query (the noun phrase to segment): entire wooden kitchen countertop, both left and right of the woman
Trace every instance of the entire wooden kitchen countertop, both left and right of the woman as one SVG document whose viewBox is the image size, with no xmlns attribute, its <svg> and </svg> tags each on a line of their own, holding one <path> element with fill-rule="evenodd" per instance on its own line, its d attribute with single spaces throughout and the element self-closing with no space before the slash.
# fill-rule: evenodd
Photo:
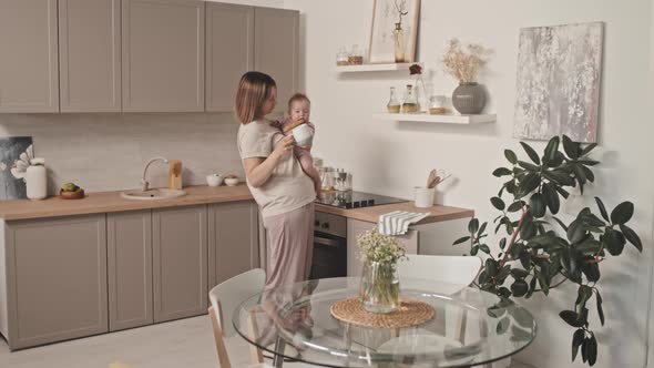
<svg viewBox="0 0 654 368">
<path fill-rule="evenodd" d="M 184 191 L 186 191 L 185 196 L 159 201 L 125 200 L 121 197 L 122 191 L 89 193 L 82 200 L 62 200 L 54 196 L 43 201 L 3 201 L 0 202 L 0 218 L 16 221 L 253 200 L 252 194 L 244 184 L 237 186 L 222 185 L 217 187 L 187 186 Z M 412 202 L 351 209 L 316 204 L 316 211 L 370 223 L 377 223 L 379 215 L 392 211 L 429 212 L 430 215 L 420 221 L 418 225 L 472 217 L 474 215 L 474 211 L 472 209 L 449 206 L 417 208 Z"/>
</svg>

